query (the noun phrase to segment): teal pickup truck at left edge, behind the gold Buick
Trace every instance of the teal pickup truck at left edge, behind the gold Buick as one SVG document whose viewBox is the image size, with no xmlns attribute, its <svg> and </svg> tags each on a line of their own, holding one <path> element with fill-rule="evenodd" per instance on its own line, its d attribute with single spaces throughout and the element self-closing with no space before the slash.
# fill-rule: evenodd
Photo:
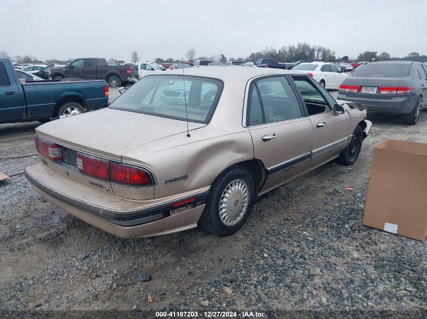
<svg viewBox="0 0 427 319">
<path fill-rule="evenodd" d="M 104 80 L 21 83 L 12 62 L 0 58 L 0 123 L 47 122 L 61 115 L 103 108 L 107 103 Z"/>
</svg>

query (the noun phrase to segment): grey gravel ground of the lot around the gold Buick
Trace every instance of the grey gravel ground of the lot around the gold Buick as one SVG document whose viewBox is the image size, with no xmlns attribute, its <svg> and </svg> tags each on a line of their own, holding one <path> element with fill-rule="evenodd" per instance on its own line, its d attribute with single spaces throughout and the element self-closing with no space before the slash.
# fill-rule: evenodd
<svg viewBox="0 0 427 319">
<path fill-rule="evenodd" d="M 0 310 L 426 309 L 426 242 L 361 222 L 373 145 L 427 142 L 427 113 L 415 126 L 369 118 L 355 165 L 328 163 L 279 187 L 227 238 L 197 228 L 121 239 L 46 202 L 23 175 L 1 182 Z M 0 156 L 33 153 L 38 124 L 0 124 Z M 0 170 L 36 162 L 0 160 Z"/>
</svg>

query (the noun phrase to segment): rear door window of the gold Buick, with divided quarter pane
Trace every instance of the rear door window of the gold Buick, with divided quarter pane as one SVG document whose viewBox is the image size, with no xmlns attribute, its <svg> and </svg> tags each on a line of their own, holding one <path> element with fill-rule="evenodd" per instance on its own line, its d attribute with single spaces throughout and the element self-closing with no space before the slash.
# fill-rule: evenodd
<svg viewBox="0 0 427 319">
<path fill-rule="evenodd" d="M 303 117 L 297 97 L 285 77 L 258 80 L 251 90 L 248 126 Z"/>
</svg>

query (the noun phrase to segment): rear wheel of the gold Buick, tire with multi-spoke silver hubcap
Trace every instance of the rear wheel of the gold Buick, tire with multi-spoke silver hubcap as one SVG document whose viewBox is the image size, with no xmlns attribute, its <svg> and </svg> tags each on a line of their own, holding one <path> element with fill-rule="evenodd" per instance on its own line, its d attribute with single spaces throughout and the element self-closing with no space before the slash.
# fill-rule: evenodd
<svg viewBox="0 0 427 319">
<path fill-rule="evenodd" d="M 254 189 L 246 169 L 234 166 L 222 172 L 212 184 L 199 225 L 220 237 L 234 234 L 248 219 L 254 203 Z"/>
</svg>

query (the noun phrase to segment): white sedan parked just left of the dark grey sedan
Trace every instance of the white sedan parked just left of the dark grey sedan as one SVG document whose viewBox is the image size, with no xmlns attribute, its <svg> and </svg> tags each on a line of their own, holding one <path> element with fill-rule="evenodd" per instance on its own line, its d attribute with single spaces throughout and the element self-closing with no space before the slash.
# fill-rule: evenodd
<svg viewBox="0 0 427 319">
<path fill-rule="evenodd" d="M 326 62 L 301 63 L 295 66 L 292 71 L 307 73 L 325 89 L 338 89 L 344 79 L 348 77 L 332 63 Z"/>
</svg>

